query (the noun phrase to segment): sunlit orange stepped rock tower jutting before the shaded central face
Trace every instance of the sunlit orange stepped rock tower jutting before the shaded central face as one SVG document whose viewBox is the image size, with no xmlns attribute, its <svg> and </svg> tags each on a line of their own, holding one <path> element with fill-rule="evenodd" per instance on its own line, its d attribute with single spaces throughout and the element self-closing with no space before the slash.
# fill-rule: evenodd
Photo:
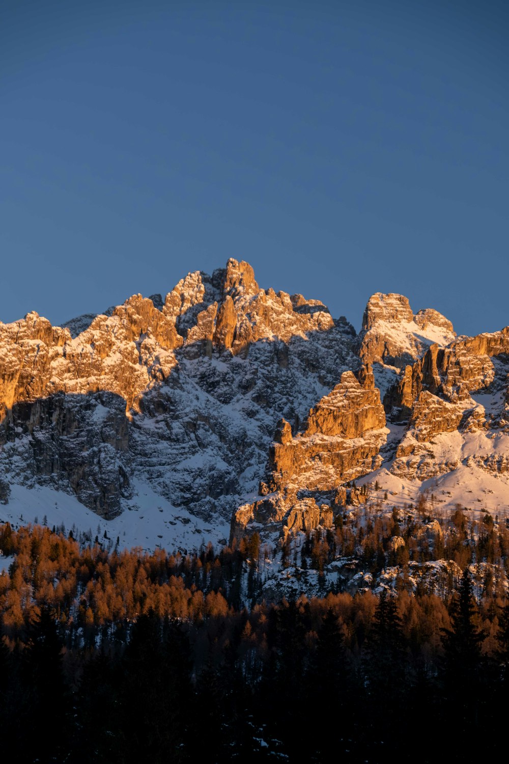
<svg viewBox="0 0 509 764">
<path fill-rule="evenodd" d="M 340 384 L 309 411 L 306 426 L 295 437 L 288 422 L 279 422 L 267 476 L 259 487 L 266 496 L 240 507 L 232 521 L 233 536 L 242 536 L 249 523 L 272 528 L 279 523 L 284 536 L 330 527 L 333 510 L 346 501 L 343 483 L 379 467 L 388 432 L 385 412 L 372 371 L 361 367 L 358 377 L 344 372 Z M 304 496 L 309 493 L 315 495 Z M 327 503 L 320 501 L 325 494 Z"/>
</svg>

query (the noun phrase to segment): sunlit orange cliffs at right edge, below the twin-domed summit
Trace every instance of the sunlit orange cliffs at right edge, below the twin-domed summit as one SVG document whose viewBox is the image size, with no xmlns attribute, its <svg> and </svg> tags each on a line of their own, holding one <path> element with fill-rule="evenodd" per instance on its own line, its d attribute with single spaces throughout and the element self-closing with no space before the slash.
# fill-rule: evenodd
<svg viewBox="0 0 509 764">
<path fill-rule="evenodd" d="M 461 463 L 497 464 L 504 471 L 503 459 L 472 455 L 465 441 L 475 432 L 500 441 L 509 422 L 508 389 L 509 329 L 462 338 L 447 348 L 431 345 L 385 397 L 389 419 L 408 423 L 391 471 L 421 480 Z M 440 439 L 444 435 L 446 441 Z"/>
</svg>

